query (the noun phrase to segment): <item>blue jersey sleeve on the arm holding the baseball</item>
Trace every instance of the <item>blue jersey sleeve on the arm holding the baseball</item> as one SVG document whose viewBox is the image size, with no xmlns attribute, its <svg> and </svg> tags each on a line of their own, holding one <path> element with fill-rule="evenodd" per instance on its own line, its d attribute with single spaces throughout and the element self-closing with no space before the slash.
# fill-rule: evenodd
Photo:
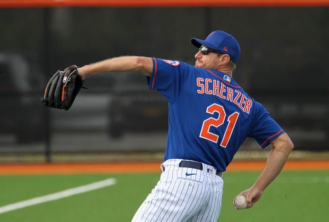
<svg viewBox="0 0 329 222">
<path fill-rule="evenodd" d="M 271 140 L 277 138 L 285 131 L 261 104 L 255 103 L 254 124 L 251 126 L 248 136 L 256 139 L 258 144 L 265 148 L 270 144 Z"/>
</svg>

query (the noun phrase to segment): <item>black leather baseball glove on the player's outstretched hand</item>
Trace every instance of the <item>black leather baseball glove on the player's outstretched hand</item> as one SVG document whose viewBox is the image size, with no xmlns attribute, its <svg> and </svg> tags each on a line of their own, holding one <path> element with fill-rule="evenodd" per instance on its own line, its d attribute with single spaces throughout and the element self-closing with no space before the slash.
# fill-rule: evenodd
<svg viewBox="0 0 329 222">
<path fill-rule="evenodd" d="M 46 107 L 68 110 L 82 88 L 82 84 L 83 80 L 78 74 L 76 65 L 67 67 L 64 71 L 58 70 L 46 86 L 42 103 Z"/>
</svg>

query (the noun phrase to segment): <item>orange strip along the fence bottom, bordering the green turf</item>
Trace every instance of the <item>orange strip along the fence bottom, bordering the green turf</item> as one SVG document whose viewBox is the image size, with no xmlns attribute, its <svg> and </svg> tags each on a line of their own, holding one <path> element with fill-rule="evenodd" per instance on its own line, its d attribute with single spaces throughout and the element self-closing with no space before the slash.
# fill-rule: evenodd
<svg viewBox="0 0 329 222">
<path fill-rule="evenodd" d="M 0 175 L 157 173 L 161 162 L 0 164 Z M 265 161 L 233 161 L 227 171 L 261 171 Z M 284 170 L 329 170 L 329 160 L 290 160 Z"/>
</svg>

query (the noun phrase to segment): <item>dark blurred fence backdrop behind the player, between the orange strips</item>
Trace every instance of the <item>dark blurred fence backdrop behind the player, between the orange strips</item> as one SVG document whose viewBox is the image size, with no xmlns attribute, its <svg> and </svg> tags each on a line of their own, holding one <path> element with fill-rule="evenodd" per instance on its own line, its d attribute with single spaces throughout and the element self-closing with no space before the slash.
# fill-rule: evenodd
<svg viewBox="0 0 329 222">
<path fill-rule="evenodd" d="M 89 90 L 81 91 L 69 111 L 42 105 L 46 82 L 58 69 L 120 55 L 194 64 L 197 49 L 190 38 L 205 38 L 217 29 L 240 43 L 234 79 L 287 131 L 295 150 L 329 151 L 329 3 L 63 7 L 72 1 L 4 2 L 9 1 L 0 2 L 0 162 L 77 156 L 106 161 L 117 160 L 117 153 L 162 158 L 167 103 L 148 90 L 143 75 L 89 77 Z M 260 147 L 247 139 L 241 150 Z"/>
</svg>

